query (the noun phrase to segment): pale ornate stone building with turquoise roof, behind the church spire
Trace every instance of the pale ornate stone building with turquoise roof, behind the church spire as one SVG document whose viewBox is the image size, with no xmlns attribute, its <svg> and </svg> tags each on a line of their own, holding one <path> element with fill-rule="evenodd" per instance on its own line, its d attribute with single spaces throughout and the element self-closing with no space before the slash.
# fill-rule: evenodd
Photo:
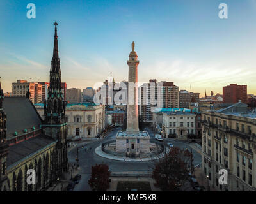
<svg viewBox="0 0 256 204">
<path fill-rule="evenodd" d="M 44 104 L 35 104 L 44 117 Z M 105 128 L 105 106 L 94 103 L 68 103 L 66 107 L 69 139 L 95 137 Z"/>
</svg>

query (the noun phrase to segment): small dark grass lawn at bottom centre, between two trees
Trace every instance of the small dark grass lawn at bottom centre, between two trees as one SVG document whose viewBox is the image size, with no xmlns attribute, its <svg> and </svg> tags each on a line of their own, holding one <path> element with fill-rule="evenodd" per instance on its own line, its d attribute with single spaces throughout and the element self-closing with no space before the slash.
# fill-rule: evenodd
<svg viewBox="0 0 256 204">
<path fill-rule="evenodd" d="M 151 191 L 149 182 L 118 181 L 116 191 L 131 191 L 131 189 L 137 189 L 137 191 Z"/>
</svg>

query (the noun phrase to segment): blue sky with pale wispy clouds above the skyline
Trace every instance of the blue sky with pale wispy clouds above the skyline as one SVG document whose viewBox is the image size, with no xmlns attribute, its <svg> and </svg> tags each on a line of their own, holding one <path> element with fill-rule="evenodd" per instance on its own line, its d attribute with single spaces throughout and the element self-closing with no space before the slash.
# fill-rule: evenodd
<svg viewBox="0 0 256 204">
<path fill-rule="evenodd" d="M 27 18 L 29 3 L 36 18 Z M 220 3 L 227 19 L 219 18 Z M 93 87 L 110 73 L 127 80 L 134 41 L 139 82 L 171 81 L 201 97 L 246 84 L 256 94 L 256 0 L 1 0 L 4 92 L 17 79 L 49 82 L 55 20 L 68 88 Z"/>
</svg>

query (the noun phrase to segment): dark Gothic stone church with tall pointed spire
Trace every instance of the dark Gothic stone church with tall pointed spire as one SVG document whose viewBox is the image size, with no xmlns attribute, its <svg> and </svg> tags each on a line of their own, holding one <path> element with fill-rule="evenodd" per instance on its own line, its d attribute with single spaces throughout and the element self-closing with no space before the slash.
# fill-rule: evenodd
<svg viewBox="0 0 256 204">
<path fill-rule="evenodd" d="M 65 101 L 61 93 L 57 22 L 44 119 L 27 97 L 4 98 L 0 83 L 0 191 L 44 191 L 68 171 Z M 28 170 L 36 184 L 28 184 Z"/>
</svg>

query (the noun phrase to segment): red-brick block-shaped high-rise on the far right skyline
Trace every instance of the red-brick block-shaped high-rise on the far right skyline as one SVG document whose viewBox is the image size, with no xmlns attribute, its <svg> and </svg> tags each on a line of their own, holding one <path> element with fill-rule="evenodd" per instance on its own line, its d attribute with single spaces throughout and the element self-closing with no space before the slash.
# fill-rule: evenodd
<svg viewBox="0 0 256 204">
<path fill-rule="evenodd" d="M 223 87 L 223 103 L 247 103 L 247 85 L 230 84 Z"/>
</svg>

